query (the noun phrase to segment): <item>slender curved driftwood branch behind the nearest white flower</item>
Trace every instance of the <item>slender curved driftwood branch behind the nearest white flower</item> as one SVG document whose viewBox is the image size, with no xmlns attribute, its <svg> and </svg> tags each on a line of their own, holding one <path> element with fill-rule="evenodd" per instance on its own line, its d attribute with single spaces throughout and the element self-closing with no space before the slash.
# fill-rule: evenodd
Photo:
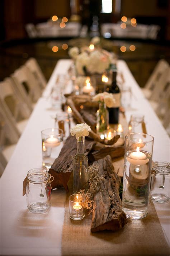
<svg viewBox="0 0 170 256">
<path fill-rule="evenodd" d="M 67 98 L 66 103 L 67 103 L 67 104 L 70 106 L 70 108 L 72 109 L 72 112 L 73 112 L 73 114 L 74 114 L 74 118 L 76 118 L 77 122 L 78 122 L 78 123 L 85 123 L 84 118 L 81 116 L 81 114 L 79 113 L 79 111 L 77 111 L 77 109 L 76 109 L 76 107 L 75 107 L 75 105 L 74 105 L 74 102 L 73 102 L 73 100 L 72 100 L 71 97 Z M 98 134 L 94 133 L 94 131 L 91 131 L 91 132 L 89 133 L 89 136 L 90 136 L 92 139 L 94 139 L 94 140 L 96 140 L 96 141 L 98 141 L 98 142 L 100 142 L 100 143 L 106 144 L 106 145 L 113 145 L 113 144 L 116 143 L 116 142 L 118 141 L 118 139 L 120 138 L 120 135 L 116 135 L 116 136 L 114 136 L 113 139 L 111 139 L 111 140 L 101 139 Z"/>
</svg>

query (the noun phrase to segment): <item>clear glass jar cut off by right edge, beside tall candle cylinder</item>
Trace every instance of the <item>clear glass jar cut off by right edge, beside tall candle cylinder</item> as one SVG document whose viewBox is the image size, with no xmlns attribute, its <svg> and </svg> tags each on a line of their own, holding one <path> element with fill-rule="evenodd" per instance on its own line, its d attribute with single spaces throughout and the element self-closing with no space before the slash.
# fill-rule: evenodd
<svg viewBox="0 0 170 256">
<path fill-rule="evenodd" d="M 151 186 L 151 198 L 156 203 L 167 203 L 169 201 L 170 163 L 156 161 L 152 166 L 152 170 L 154 171 L 155 179 Z"/>
</svg>

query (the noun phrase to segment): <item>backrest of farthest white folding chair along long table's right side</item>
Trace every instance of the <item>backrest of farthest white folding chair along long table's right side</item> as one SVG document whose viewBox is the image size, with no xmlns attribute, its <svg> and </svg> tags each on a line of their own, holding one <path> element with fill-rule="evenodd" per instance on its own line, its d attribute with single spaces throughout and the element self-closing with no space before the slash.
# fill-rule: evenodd
<svg viewBox="0 0 170 256">
<path fill-rule="evenodd" d="M 161 74 L 168 67 L 169 64 L 167 63 L 167 61 L 165 59 L 160 59 L 159 62 L 156 64 L 156 67 L 154 68 L 154 71 L 152 72 L 148 81 L 146 82 L 145 88 L 153 90 Z"/>
</svg>

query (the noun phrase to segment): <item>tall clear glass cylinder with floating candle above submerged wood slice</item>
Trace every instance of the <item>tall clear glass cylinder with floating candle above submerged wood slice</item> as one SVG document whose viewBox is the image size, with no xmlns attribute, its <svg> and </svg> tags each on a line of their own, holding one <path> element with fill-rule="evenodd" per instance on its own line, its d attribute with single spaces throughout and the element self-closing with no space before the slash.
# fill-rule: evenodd
<svg viewBox="0 0 170 256">
<path fill-rule="evenodd" d="M 142 133 L 125 137 L 122 210 L 130 219 L 147 216 L 154 138 Z"/>
</svg>

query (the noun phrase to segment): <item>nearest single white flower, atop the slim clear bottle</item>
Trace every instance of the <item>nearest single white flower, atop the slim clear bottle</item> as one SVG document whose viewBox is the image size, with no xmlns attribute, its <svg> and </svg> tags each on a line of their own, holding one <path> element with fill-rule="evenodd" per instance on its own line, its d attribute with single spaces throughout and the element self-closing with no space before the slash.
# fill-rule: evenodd
<svg viewBox="0 0 170 256">
<path fill-rule="evenodd" d="M 70 129 L 71 136 L 76 135 L 76 139 L 81 136 L 88 136 L 91 128 L 86 123 L 80 123 Z"/>
</svg>

